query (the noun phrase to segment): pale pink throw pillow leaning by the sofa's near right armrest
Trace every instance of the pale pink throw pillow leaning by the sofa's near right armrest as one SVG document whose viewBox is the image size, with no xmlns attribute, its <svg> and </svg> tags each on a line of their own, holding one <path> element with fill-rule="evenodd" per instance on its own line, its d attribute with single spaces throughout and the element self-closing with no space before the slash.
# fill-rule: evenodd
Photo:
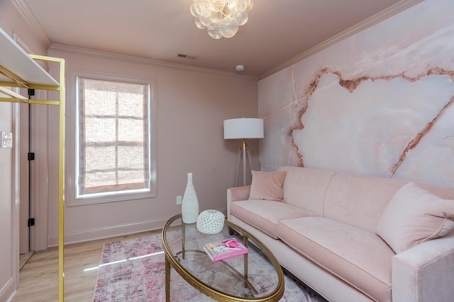
<svg viewBox="0 0 454 302">
<path fill-rule="evenodd" d="M 409 182 L 392 197 L 376 233 L 399 253 L 454 229 L 454 200 L 442 199 Z"/>
</svg>

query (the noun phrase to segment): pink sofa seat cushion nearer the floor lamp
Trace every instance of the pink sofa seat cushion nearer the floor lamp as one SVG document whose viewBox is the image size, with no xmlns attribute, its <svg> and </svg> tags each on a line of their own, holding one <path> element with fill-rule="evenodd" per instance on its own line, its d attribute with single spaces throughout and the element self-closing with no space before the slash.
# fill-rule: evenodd
<svg viewBox="0 0 454 302">
<path fill-rule="evenodd" d="M 310 211 L 305 211 L 283 202 L 255 199 L 232 202 L 230 213 L 275 239 L 277 239 L 277 223 L 280 220 L 314 216 Z"/>
</svg>

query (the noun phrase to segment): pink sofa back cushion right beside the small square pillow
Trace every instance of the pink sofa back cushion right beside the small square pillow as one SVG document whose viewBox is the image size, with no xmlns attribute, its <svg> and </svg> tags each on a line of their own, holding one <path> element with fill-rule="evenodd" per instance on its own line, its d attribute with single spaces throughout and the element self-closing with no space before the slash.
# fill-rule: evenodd
<svg viewBox="0 0 454 302">
<path fill-rule="evenodd" d="M 328 170 L 284 166 L 284 202 L 323 216 L 323 201 L 328 185 L 336 173 Z M 375 229 L 374 229 L 375 231 Z"/>
</svg>

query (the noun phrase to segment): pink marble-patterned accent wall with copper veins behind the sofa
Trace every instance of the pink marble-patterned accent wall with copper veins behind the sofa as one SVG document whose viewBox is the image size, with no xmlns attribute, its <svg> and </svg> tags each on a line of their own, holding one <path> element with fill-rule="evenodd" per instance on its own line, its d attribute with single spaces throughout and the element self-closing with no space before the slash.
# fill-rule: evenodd
<svg viewBox="0 0 454 302">
<path fill-rule="evenodd" d="M 426 0 L 259 82 L 262 170 L 454 187 L 454 1 Z"/>
</svg>

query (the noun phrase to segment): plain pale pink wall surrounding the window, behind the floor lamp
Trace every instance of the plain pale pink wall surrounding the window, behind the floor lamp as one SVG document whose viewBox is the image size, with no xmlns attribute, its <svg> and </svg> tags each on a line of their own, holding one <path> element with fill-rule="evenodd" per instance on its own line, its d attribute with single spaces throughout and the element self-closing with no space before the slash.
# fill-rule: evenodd
<svg viewBox="0 0 454 302">
<path fill-rule="evenodd" d="M 138 76 L 157 83 L 157 197 L 65 207 L 65 242 L 161 228 L 181 211 L 176 197 L 184 193 L 188 172 L 193 173 L 200 210 L 226 211 L 226 190 L 234 183 L 240 141 L 223 139 L 223 120 L 258 116 L 257 79 L 156 66 L 143 59 L 62 45 L 52 46 L 49 55 L 64 58 L 67 69 Z M 74 102 L 73 95 L 67 96 L 67 102 Z M 50 108 L 50 245 L 57 244 L 57 114 L 57 108 Z M 71 129 L 68 125 L 67 141 L 74 139 Z M 258 151 L 258 141 L 251 146 Z M 74 163 L 68 159 L 67 164 Z"/>
</svg>

